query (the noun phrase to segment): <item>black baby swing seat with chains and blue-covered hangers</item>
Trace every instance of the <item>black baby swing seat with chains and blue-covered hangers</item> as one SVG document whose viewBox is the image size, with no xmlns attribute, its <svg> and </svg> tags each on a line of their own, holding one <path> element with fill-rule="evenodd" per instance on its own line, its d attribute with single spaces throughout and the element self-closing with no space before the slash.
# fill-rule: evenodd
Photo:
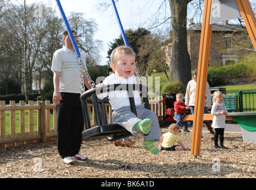
<svg viewBox="0 0 256 190">
<path fill-rule="evenodd" d="M 68 31 L 69 37 L 71 37 L 71 42 L 72 45 L 75 49 L 75 53 L 78 58 L 78 62 L 80 64 L 80 78 L 81 78 L 81 104 L 83 107 L 83 116 L 84 116 L 84 122 L 86 125 L 86 130 L 82 132 L 83 138 L 90 138 L 90 137 L 101 137 L 101 136 L 106 136 L 109 141 L 115 141 L 121 138 L 129 137 L 132 134 L 128 132 L 125 128 L 123 128 L 120 125 L 117 124 L 108 124 L 108 120 L 106 117 L 106 111 L 105 111 L 105 103 L 108 102 L 108 99 L 104 100 L 99 100 L 97 98 L 97 93 L 102 93 L 102 92 L 110 92 L 113 90 L 127 90 L 128 95 L 129 95 L 129 102 L 131 105 L 131 110 L 132 112 L 137 115 L 136 113 L 136 108 L 135 108 L 135 102 L 134 102 L 134 97 L 133 97 L 133 90 L 138 90 L 142 91 L 142 97 L 144 101 L 144 106 L 147 109 L 150 109 L 149 103 L 148 103 L 148 98 L 147 98 L 147 86 L 142 84 L 142 80 L 140 78 L 140 75 L 138 74 L 138 70 L 135 67 L 135 74 L 137 75 L 138 80 L 140 81 L 140 84 L 114 84 L 114 85 L 105 85 L 101 88 L 95 88 L 94 87 L 94 82 L 91 80 L 91 77 L 89 75 L 89 72 L 87 71 L 86 65 L 83 64 L 83 60 L 81 60 L 81 55 L 78 50 L 77 44 L 75 43 L 74 36 L 72 35 L 71 28 L 68 24 L 68 20 L 65 16 L 64 10 L 62 9 L 61 3 L 59 0 L 56 0 L 59 11 L 61 12 L 62 19 L 65 22 L 65 26 Z M 125 46 L 129 47 L 127 37 L 125 36 L 124 29 L 122 27 L 121 20 L 118 15 L 118 11 L 115 6 L 115 2 L 112 0 L 112 5 L 113 9 L 116 14 L 116 19 L 119 24 L 119 28 L 122 33 L 122 37 L 124 39 Z M 86 73 L 87 78 L 89 79 L 89 83 L 91 85 L 91 89 L 84 91 L 84 81 L 83 81 L 83 71 Z M 91 97 L 91 98 L 89 98 Z M 89 115 L 89 110 L 87 108 L 87 102 L 93 103 L 93 108 L 94 108 L 94 115 L 96 117 L 96 126 L 91 128 L 90 125 L 90 115 Z M 99 108 L 99 105 L 101 109 Z M 102 125 L 103 121 L 103 125 Z"/>
</svg>

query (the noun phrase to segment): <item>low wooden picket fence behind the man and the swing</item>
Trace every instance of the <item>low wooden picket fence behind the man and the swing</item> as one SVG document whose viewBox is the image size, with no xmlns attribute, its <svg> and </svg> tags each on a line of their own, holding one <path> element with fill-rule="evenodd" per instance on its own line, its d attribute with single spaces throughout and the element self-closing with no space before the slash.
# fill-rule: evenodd
<svg viewBox="0 0 256 190">
<path fill-rule="evenodd" d="M 149 99 L 151 110 L 159 118 L 163 115 L 162 100 Z M 88 105 L 91 110 L 91 126 L 95 126 L 93 105 Z M 109 104 L 105 105 L 108 113 L 108 122 L 112 123 L 112 109 Z M 10 101 L 10 105 L 5 105 L 5 101 L 0 101 L 0 148 L 18 147 L 29 143 L 46 143 L 56 139 L 56 105 L 46 102 L 29 101 L 25 105 L 20 101 L 18 105 L 15 101 Z"/>
</svg>

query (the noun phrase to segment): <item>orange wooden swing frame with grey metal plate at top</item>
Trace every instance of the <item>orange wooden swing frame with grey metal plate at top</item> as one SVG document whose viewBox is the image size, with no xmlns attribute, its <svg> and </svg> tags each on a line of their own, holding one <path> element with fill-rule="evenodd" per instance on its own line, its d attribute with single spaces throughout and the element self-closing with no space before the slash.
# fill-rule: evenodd
<svg viewBox="0 0 256 190">
<path fill-rule="evenodd" d="M 204 114 L 204 97 L 206 96 L 206 81 L 208 71 L 208 60 L 210 55 L 211 32 L 213 24 L 232 18 L 243 17 L 246 29 L 248 30 L 252 44 L 256 49 L 256 19 L 248 0 L 207 0 L 204 1 L 203 25 L 201 30 L 200 52 L 198 59 L 197 90 L 195 99 L 195 111 L 193 116 L 193 131 L 191 142 L 191 154 L 197 157 L 200 154 L 201 134 Z M 235 121 L 247 121 L 245 113 L 232 113 Z M 251 113 L 253 120 L 256 113 Z M 240 119 L 237 119 L 240 118 Z M 184 118 L 185 119 L 185 118 Z M 250 120 L 251 120 L 250 119 Z M 254 119 L 255 122 L 255 119 Z M 251 126 L 255 126 L 253 124 Z"/>
</svg>

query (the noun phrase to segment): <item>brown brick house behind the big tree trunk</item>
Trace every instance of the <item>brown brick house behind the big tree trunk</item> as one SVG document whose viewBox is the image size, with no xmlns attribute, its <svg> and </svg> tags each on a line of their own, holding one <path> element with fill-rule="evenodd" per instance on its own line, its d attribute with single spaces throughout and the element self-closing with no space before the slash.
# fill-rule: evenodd
<svg viewBox="0 0 256 190">
<path fill-rule="evenodd" d="M 187 42 L 192 70 L 197 69 L 200 39 L 201 23 L 195 24 L 191 20 L 187 29 Z M 170 65 L 171 62 L 171 46 L 172 43 L 165 46 L 167 65 Z M 229 24 L 228 21 L 213 24 L 209 66 L 234 64 L 238 62 L 242 55 L 249 52 L 255 52 L 255 50 L 245 26 Z"/>
</svg>

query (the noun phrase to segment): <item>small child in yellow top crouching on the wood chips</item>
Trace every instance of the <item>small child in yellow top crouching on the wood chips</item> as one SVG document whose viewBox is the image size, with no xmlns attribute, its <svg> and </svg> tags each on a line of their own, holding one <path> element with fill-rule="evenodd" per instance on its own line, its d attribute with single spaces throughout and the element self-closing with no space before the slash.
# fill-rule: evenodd
<svg viewBox="0 0 256 190">
<path fill-rule="evenodd" d="M 161 150 L 167 150 L 167 151 L 173 151 L 173 150 L 187 150 L 187 148 L 184 147 L 181 140 L 179 140 L 178 132 L 180 130 L 180 126 L 177 124 L 171 124 L 168 128 L 168 132 L 163 134 L 163 136 L 160 139 L 160 144 L 158 145 L 158 149 Z M 175 143 L 178 142 L 179 145 L 175 145 Z"/>
</svg>

